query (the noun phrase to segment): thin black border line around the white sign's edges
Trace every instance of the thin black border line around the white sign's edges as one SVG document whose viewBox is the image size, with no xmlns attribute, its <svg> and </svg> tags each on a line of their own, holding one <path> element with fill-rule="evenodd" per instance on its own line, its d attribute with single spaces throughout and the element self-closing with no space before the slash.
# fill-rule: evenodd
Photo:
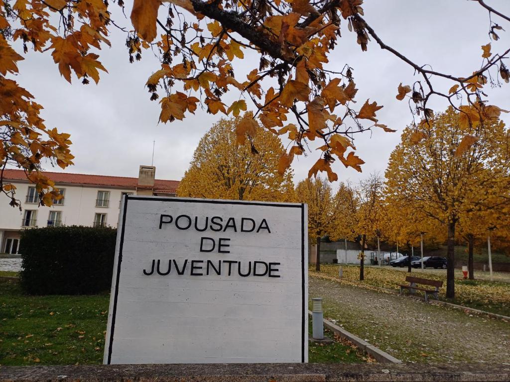
<svg viewBox="0 0 510 382">
<path fill-rule="evenodd" d="M 287 207 L 287 208 L 301 208 L 301 363 L 304 363 L 304 348 L 305 348 L 305 340 L 308 340 L 306 337 L 305 330 L 305 321 L 306 314 L 305 312 L 305 290 L 304 290 L 304 279 L 305 279 L 305 258 L 304 258 L 304 203 L 301 204 L 278 204 L 278 203 L 261 203 L 261 202 L 237 202 L 230 200 L 205 200 L 205 199 L 181 199 L 181 198 L 158 198 L 158 197 L 143 197 L 143 196 L 133 196 L 133 195 L 125 195 L 123 210 L 122 210 L 122 223 L 121 223 L 121 231 L 120 231 L 120 243 L 119 243 L 119 256 L 117 258 L 117 277 L 115 278 L 115 293 L 113 299 L 113 312 L 112 312 L 112 323 L 110 325 L 110 343 L 108 344 L 108 363 L 111 364 L 112 361 L 112 347 L 113 347 L 113 334 L 115 332 L 115 318 L 117 313 L 117 299 L 118 299 L 118 290 L 119 290 L 119 279 L 120 279 L 120 266 L 122 263 L 122 247 L 124 244 L 124 228 L 126 221 L 126 210 L 127 210 L 127 201 L 129 200 L 156 200 L 160 202 L 184 202 L 184 203 L 210 203 L 210 204 L 242 204 L 242 205 L 251 205 L 251 206 L 265 206 L 265 207 Z"/>
</svg>

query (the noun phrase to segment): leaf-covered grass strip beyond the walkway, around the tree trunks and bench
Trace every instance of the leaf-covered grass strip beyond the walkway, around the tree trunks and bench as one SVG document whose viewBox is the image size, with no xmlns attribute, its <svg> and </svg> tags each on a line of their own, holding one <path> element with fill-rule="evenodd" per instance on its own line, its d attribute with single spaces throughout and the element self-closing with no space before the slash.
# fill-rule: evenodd
<svg viewBox="0 0 510 382">
<path fill-rule="evenodd" d="M 320 274 L 338 278 L 338 265 L 321 264 Z M 315 272 L 315 265 L 310 271 Z M 360 282 L 360 267 L 358 265 L 343 265 L 343 280 L 362 283 L 367 286 L 376 286 L 398 290 L 398 284 L 406 285 L 405 277 L 407 272 L 392 269 L 390 267 L 366 267 L 365 280 Z M 446 293 L 446 272 L 442 274 L 431 274 L 413 269 L 412 276 L 422 277 L 430 280 L 442 280 L 443 287 L 439 291 L 439 298 L 454 304 L 484 310 L 487 312 L 510 316 L 510 284 L 501 282 L 490 282 L 482 280 L 455 279 L 455 299 L 445 297 Z M 418 293 L 419 294 L 419 293 Z"/>
</svg>

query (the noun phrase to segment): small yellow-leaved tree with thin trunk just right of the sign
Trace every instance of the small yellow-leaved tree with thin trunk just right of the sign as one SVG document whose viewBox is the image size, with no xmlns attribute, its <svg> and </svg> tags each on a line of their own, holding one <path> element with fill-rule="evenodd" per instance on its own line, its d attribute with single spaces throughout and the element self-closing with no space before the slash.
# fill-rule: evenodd
<svg viewBox="0 0 510 382">
<path fill-rule="evenodd" d="M 335 235 L 337 220 L 344 212 L 341 200 L 320 176 L 301 180 L 296 186 L 296 200 L 308 204 L 308 237 L 317 244 L 315 269 L 320 271 L 320 240 L 324 235 Z"/>
</svg>

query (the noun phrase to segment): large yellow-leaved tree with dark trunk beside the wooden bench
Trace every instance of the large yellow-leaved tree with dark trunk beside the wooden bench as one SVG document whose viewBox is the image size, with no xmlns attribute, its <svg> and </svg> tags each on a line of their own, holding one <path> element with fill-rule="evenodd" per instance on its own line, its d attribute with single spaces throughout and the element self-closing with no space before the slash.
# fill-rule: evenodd
<svg viewBox="0 0 510 382">
<path fill-rule="evenodd" d="M 466 124 L 464 118 L 449 107 L 428 123 L 406 127 L 386 171 L 388 202 L 395 203 L 396 208 L 407 205 L 419 211 L 446 232 L 448 297 L 455 293 L 454 242 L 458 222 L 467 220 L 469 226 L 480 213 L 507 212 L 510 200 L 508 130 L 499 120 L 474 126 Z M 419 139 L 413 138 L 418 135 Z M 471 143 L 463 146 L 466 137 L 471 137 Z"/>
</svg>

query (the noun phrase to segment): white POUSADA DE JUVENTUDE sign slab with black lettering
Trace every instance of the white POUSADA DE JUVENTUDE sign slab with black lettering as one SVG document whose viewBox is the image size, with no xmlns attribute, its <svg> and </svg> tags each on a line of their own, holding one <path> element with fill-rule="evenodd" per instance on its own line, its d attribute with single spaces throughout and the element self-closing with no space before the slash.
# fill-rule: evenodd
<svg viewBox="0 0 510 382">
<path fill-rule="evenodd" d="M 105 364 L 308 362 L 307 206 L 127 196 Z"/>
</svg>

